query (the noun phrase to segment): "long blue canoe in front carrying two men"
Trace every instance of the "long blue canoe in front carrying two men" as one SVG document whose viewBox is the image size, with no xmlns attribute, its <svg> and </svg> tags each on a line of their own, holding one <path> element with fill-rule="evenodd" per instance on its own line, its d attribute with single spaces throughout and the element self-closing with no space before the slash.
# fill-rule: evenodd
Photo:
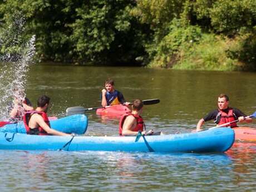
<svg viewBox="0 0 256 192">
<path fill-rule="evenodd" d="M 148 152 L 143 137 L 135 136 L 38 136 L 0 133 L 0 150 L 139 151 Z M 234 142 L 229 128 L 189 134 L 145 136 L 155 152 L 224 152 Z"/>
</svg>

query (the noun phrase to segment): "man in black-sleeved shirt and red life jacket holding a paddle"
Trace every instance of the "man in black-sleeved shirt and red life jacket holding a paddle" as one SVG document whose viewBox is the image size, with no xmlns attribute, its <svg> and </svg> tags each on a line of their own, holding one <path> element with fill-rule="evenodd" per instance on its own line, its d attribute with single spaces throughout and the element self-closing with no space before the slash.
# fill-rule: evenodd
<svg viewBox="0 0 256 192">
<path fill-rule="evenodd" d="M 220 94 L 218 96 L 218 109 L 209 112 L 203 119 L 200 119 L 196 125 L 196 131 L 201 130 L 201 126 L 204 125 L 204 122 L 214 120 L 217 125 L 227 124 L 235 120 L 239 122 L 252 122 L 252 118 L 245 118 L 245 115 L 239 109 L 234 107 L 229 107 L 229 97 L 225 94 Z M 235 122 L 225 125 L 226 127 L 237 127 Z"/>
</svg>

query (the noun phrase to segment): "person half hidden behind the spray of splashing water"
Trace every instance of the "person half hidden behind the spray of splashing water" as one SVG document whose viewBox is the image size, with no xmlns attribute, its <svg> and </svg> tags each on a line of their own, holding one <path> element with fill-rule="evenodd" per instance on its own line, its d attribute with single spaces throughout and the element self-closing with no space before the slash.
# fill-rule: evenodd
<svg viewBox="0 0 256 192">
<path fill-rule="evenodd" d="M 20 99 L 19 97 L 21 97 L 22 99 Z M 24 112 L 32 110 L 32 103 L 27 97 L 25 97 L 24 92 L 22 90 L 18 91 L 17 89 L 14 89 L 14 100 L 11 104 L 9 104 L 9 121 L 22 121 Z"/>
</svg>

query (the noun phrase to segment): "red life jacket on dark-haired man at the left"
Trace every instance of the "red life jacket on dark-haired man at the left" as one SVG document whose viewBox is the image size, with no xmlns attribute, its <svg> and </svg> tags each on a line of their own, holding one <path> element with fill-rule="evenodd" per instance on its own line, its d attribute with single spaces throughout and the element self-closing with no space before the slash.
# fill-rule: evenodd
<svg viewBox="0 0 256 192">
<path fill-rule="evenodd" d="M 34 129 L 31 129 L 28 126 L 29 119 L 31 118 L 31 115 L 33 114 L 40 114 L 43 117 L 43 120 L 46 122 L 46 124 L 50 127 L 50 121 L 48 120 L 46 112 L 40 112 L 40 111 L 28 111 L 23 116 L 23 122 L 27 131 L 28 135 L 48 135 L 47 132 L 42 127 L 37 127 Z"/>
</svg>

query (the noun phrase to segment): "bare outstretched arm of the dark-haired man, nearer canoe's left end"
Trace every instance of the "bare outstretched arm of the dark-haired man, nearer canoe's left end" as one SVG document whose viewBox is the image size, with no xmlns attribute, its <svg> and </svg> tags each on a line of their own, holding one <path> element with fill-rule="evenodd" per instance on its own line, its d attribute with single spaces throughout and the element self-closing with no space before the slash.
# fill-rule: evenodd
<svg viewBox="0 0 256 192">
<path fill-rule="evenodd" d="M 35 114 L 31 117 L 31 120 L 32 119 L 34 121 L 35 126 L 37 124 L 40 127 L 42 127 L 42 129 L 45 130 L 47 132 L 47 134 L 58 135 L 58 136 L 70 136 L 70 134 L 66 134 L 65 132 L 61 132 L 61 131 L 57 131 L 55 129 L 51 129 L 51 127 L 49 127 L 46 124 L 46 122 L 43 120 L 43 117 L 41 115 Z M 35 126 L 31 126 L 31 127 L 35 127 Z"/>
</svg>

